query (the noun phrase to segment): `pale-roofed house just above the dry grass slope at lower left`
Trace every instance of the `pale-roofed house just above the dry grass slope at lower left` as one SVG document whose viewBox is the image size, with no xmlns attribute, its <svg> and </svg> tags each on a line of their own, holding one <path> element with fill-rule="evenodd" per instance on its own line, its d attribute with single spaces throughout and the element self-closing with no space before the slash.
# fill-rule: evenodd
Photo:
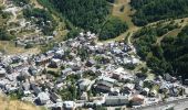
<svg viewBox="0 0 188 110">
<path fill-rule="evenodd" d="M 45 105 L 50 100 L 50 97 L 46 92 L 40 92 L 38 98 L 41 105 Z"/>
</svg>

